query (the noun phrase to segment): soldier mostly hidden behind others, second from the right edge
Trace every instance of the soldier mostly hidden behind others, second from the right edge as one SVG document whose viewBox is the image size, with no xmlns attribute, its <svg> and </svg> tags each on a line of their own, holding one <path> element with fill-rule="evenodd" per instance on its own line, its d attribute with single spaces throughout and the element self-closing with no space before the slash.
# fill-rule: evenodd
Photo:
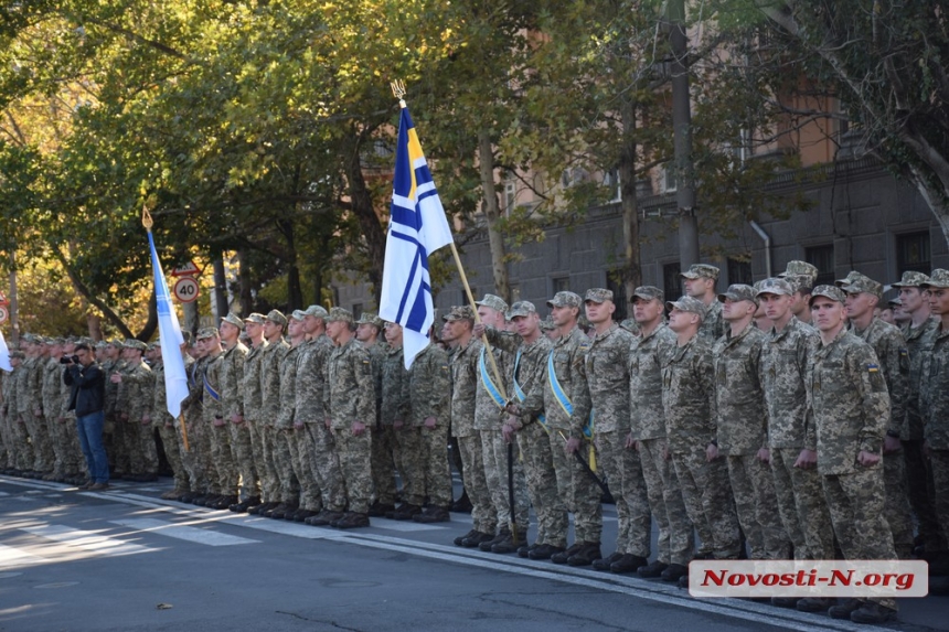
<svg viewBox="0 0 949 632">
<path fill-rule="evenodd" d="M 908 399 L 906 401 L 906 435 L 903 441 L 903 454 L 906 460 L 906 483 L 909 489 L 909 504 L 916 514 L 919 528 L 919 539 L 923 546 L 921 555 L 930 563 L 949 550 L 942 538 L 941 529 L 936 522 L 932 510 L 932 471 L 929 459 L 923 453 L 924 419 L 926 413 L 919 406 L 919 386 L 923 383 L 923 364 L 926 353 L 924 341 L 939 328 L 939 320 L 931 317 L 929 300 L 925 296 L 923 283 L 929 282 L 929 277 L 923 272 L 904 272 L 899 281 L 893 283 L 899 291 L 899 309 L 905 314 L 903 338 L 909 352 Z"/>
</svg>

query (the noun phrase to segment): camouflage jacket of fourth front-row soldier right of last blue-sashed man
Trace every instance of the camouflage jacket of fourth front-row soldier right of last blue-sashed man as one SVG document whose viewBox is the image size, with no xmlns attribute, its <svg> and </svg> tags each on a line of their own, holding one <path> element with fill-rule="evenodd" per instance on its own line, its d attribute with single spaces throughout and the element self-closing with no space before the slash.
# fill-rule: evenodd
<svg viewBox="0 0 949 632">
<path fill-rule="evenodd" d="M 757 453 L 765 447 L 768 413 L 761 378 L 761 347 L 767 335 L 749 323 L 729 331 L 712 349 L 718 410 L 718 450 L 726 456 Z"/>
</svg>

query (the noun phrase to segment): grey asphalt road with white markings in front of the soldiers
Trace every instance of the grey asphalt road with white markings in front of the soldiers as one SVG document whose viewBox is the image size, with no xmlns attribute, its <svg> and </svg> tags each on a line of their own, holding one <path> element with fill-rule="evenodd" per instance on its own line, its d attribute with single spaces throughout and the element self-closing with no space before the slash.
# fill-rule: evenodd
<svg viewBox="0 0 949 632">
<path fill-rule="evenodd" d="M 865 630 L 767 604 L 461 549 L 470 518 L 354 532 L 0 476 L 0 630 Z M 605 542 L 616 533 L 607 505 Z M 608 546 L 604 554 L 609 553 Z M 949 597 L 905 599 L 896 630 L 949 630 Z"/>
</svg>

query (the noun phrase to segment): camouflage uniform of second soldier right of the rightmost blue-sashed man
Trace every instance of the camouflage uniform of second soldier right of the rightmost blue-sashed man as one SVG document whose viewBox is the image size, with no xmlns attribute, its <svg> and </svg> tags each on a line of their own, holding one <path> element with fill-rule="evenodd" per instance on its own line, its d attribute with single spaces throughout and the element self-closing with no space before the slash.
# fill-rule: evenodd
<svg viewBox="0 0 949 632">
<path fill-rule="evenodd" d="M 662 408 L 662 357 L 675 349 L 675 334 L 660 323 L 647 338 L 637 336 L 629 355 L 632 438 L 639 442 L 649 506 L 659 526 L 658 560 L 687 566 L 695 548 L 679 479 L 665 459 L 665 413 Z"/>
</svg>

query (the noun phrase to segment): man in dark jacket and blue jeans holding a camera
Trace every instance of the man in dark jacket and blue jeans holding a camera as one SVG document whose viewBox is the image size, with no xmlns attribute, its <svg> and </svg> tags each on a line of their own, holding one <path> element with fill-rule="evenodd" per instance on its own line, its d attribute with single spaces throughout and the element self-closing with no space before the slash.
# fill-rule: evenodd
<svg viewBox="0 0 949 632">
<path fill-rule="evenodd" d="M 103 444 L 105 374 L 87 344 L 77 344 L 75 355 L 63 372 L 63 382 L 71 387 L 70 410 L 76 411 L 76 431 L 89 469 L 89 480 L 81 490 L 109 489 L 109 461 Z"/>
</svg>

